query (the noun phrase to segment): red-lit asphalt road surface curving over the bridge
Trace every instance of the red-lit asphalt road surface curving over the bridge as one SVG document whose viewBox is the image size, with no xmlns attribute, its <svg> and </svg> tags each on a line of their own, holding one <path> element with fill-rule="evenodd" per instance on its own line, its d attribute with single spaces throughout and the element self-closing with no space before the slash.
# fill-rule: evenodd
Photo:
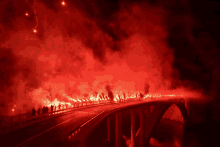
<svg viewBox="0 0 220 147">
<path fill-rule="evenodd" d="M 54 117 L 1 136 L 1 147 L 62 146 L 71 130 L 116 105 L 85 108 Z"/>
</svg>

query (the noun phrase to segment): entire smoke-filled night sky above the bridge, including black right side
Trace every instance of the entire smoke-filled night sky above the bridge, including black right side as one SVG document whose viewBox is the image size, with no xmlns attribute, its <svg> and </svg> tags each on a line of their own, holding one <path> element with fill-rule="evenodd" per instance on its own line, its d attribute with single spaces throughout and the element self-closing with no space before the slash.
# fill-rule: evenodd
<svg viewBox="0 0 220 147">
<path fill-rule="evenodd" d="M 196 4 L 65 2 L 0 2 L 1 108 L 97 95 L 106 85 L 117 94 L 180 88 L 217 97 L 219 28 L 202 27 L 208 18 Z"/>
</svg>

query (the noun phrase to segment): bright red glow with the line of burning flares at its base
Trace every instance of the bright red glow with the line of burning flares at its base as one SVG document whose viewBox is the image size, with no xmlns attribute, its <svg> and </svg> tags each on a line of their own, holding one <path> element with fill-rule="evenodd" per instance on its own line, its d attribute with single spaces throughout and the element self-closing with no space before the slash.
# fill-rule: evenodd
<svg viewBox="0 0 220 147">
<path fill-rule="evenodd" d="M 71 6 L 65 1 L 58 4 Z M 143 99 L 185 96 L 185 91 L 168 90 L 173 53 L 164 41 L 167 31 L 163 26 L 163 10 L 131 5 L 129 11 L 118 11 L 115 20 L 124 21 L 107 23 L 111 28 L 118 25 L 117 29 L 128 36 L 118 42 L 120 52 L 112 52 L 111 47 L 115 44 L 112 36 L 77 8 L 69 10 L 69 17 L 63 17 L 62 11 L 54 13 L 43 3 L 36 7 L 35 35 L 21 30 L 11 35 L 4 45 L 11 44 L 14 54 L 19 55 L 16 66 L 21 67 L 21 72 L 14 77 L 17 107 L 8 108 L 10 112 L 12 108 L 17 113 L 18 109 L 27 107 L 109 101 L 106 85 L 110 85 L 114 101 L 123 100 L 124 94 L 125 100 L 139 98 L 140 93 L 144 95 Z M 25 13 L 25 16 L 29 15 Z M 118 33 L 120 36 L 120 31 Z M 38 36 L 43 37 L 39 39 Z M 97 56 L 100 55 L 95 55 L 102 51 L 106 64 L 99 60 Z M 24 58 L 20 59 L 20 56 Z M 145 92 L 146 84 L 149 84 L 149 93 Z M 32 91 L 25 91 L 26 86 L 32 86 Z M 51 90 L 46 90 L 48 87 Z"/>
</svg>

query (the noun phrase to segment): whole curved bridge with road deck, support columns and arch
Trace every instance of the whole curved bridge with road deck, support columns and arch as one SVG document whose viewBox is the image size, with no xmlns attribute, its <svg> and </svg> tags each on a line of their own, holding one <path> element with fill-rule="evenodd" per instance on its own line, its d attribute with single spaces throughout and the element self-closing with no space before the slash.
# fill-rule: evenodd
<svg viewBox="0 0 220 147">
<path fill-rule="evenodd" d="M 127 146 L 147 146 L 152 132 L 168 111 L 177 107 L 188 121 L 188 112 L 183 99 L 134 100 L 100 105 L 86 104 L 80 109 L 71 109 L 65 114 L 50 117 L 29 126 L 3 134 L 0 141 L 7 146 L 92 146 L 88 144 L 91 134 L 105 122 L 105 146 L 121 147 L 123 139 Z M 167 113 L 168 114 L 168 113 Z M 123 116 L 130 119 L 129 138 L 123 134 Z M 169 115 L 169 114 L 168 114 Z M 169 116 L 168 116 L 169 117 Z M 184 132 L 183 132 L 184 133 Z M 22 134 L 22 135 L 21 135 Z M 13 139 L 13 142 L 10 141 Z"/>
</svg>

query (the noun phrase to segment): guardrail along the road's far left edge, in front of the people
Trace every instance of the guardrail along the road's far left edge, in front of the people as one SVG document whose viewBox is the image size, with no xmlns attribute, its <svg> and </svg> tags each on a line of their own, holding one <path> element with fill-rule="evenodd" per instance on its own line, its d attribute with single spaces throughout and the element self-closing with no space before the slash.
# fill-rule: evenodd
<svg viewBox="0 0 220 147">
<path fill-rule="evenodd" d="M 41 113 L 40 115 L 36 115 L 36 116 L 31 116 L 31 112 L 11 116 L 11 117 L 7 118 L 8 120 L 10 119 L 9 120 L 10 122 L 7 122 L 7 121 L 0 122 L 1 123 L 0 134 L 6 133 L 6 132 L 11 132 L 11 131 L 16 130 L 18 128 L 21 128 L 22 126 L 25 127 L 28 124 L 34 123 L 36 121 L 50 118 L 51 116 L 56 116 L 58 114 L 63 114 L 65 112 L 78 110 L 80 108 L 87 108 L 87 107 L 91 107 L 91 106 L 100 106 L 100 105 L 104 105 L 107 103 L 109 103 L 109 101 L 103 101 L 103 102 L 89 101 L 89 102 L 75 103 L 73 105 L 73 107 L 69 107 L 66 109 L 60 109 L 60 110 L 56 110 L 56 111 L 52 111 L 52 112 L 48 112 L 48 113 L 44 113 L 44 114 Z"/>
</svg>

